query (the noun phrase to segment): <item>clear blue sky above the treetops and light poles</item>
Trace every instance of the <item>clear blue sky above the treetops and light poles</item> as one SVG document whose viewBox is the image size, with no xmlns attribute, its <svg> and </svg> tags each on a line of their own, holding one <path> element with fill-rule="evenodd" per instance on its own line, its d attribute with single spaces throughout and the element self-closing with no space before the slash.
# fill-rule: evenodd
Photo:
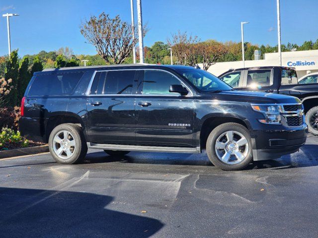
<svg viewBox="0 0 318 238">
<path fill-rule="evenodd" d="M 136 8 L 136 0 L 135 8 Z M 276 0 L 143 0 L 143 21 L 150 31 L 145 45 L 166 42 L 172 33 L 187 31 L 201 40 L 276 45 Z M 282 43 L 318 39 L 318 0 L 281 0 Z M 130 22 L 130 0 L 1 0 L 0 13 L 10 19 L 11 46 L 19 55 L 71 47 L 75 54 L 95 54 L 79 33 L 81 20 L 105 11 Z M 135 10 L 136 11 L 136 10 Z M 136 14 L 137 15 L 137 14 Z M 135 15 L 135 16 L 136 16 Z M 137 21 L 137 17 L 136 17 Z M 0 55 L 7 54 L 6 21 L 0 18 Z"/>
</svg>

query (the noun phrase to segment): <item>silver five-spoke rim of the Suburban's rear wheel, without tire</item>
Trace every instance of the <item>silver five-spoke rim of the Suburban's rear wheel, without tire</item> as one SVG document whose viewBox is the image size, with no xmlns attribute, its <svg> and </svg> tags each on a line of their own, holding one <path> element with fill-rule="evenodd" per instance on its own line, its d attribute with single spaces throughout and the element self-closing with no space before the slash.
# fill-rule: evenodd
<svg viewBox="0 0 318 238">
<path fill-rule="evenodd" d="M 67 130 L 61 130 L 54 136 L 53 150 L 61 159 L 69 159 L 75 152 L 76 143 L 74 136 Z"/>
</svg>

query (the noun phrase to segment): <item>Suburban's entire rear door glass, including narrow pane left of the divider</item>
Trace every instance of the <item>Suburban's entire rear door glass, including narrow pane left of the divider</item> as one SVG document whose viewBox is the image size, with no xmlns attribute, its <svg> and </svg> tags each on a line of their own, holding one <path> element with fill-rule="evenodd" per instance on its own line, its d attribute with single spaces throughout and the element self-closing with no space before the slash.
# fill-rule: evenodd
<svg viewBox="0 0 318 238">
<path fill-rule="evenodd" d="M 132 94 L 136 70 L 96 72 L 90 94 Z"/>
</svg>

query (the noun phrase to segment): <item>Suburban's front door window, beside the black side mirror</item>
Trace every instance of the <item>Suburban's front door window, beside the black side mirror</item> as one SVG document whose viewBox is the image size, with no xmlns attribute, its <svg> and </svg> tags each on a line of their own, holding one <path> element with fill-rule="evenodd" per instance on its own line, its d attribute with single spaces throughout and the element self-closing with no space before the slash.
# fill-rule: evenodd
<svg viewBox="0 0 318 238">
<path fill-rule="evenodd" d="M 170 93 L 169 88 L 172 84 L 181 82 L 171 73 L 159 70 L 145 70 L 143 80 L 143 94 L 176 94 Z"/>
</svg>

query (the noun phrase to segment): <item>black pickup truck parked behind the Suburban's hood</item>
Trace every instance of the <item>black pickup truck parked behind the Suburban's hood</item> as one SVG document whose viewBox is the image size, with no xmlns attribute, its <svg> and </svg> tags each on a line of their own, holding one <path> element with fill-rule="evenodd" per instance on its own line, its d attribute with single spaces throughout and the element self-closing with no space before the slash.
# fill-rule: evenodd
<svg viewBox="0 0 318 238">
<path fill-rule="evenodd" d="M 304 105 L 309 132 L 318 135 L 318 83 L 298 82 L 295 68 L 264 66 L 230 69 L 219 78 L 236 90 L 278 93 L 299 98 Z"/>
</svg>

